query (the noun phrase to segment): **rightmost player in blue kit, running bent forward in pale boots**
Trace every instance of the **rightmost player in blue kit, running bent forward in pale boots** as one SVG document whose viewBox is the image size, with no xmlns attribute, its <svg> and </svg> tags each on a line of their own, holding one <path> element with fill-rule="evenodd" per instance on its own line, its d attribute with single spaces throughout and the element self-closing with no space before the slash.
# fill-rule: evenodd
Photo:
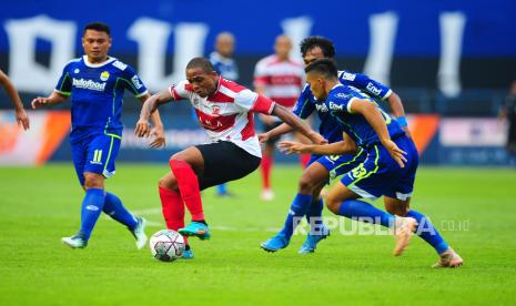
<svg viewBox="0 0 516 306">
<path fill-rule="evenodd" d="M 415 232 L 439 255 L 434 267 L 462 266 L 461 256 L 448 246 L 429 220 L 409 207 L 418 153 L 397 120 L 355 88 L 343 85 L 333 60 L 317 60 L 305 71 L 314 96 L 324 101 L 326 112 L 338 122 L 351 141 L 366 152 L 366 159 L 333 185 L 326 197 L 330 211 L 393 228 L 397 238 L 395 256 L 403 253 L 411 232 Z M 294 151 L 297 152 L 306 151 L 303 144 L 285 147 L 291 150 L 292 146 L 296 146 Z M 324 146 L 310 145 L 308 152 L 342 154 L 350 153 L 350 150 L 346 141 L 343 141 Z M 374 201 L 381 196 L 384 196 L 388 213 L 358 200 Z"/>
</svg>

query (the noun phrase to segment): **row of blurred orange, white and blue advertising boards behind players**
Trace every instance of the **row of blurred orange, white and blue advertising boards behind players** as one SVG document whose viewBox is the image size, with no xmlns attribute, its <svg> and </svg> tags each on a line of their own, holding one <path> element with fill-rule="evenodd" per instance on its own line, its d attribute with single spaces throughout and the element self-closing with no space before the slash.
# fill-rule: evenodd
<svg viewBox="0 0 516 306">
<path fill-rule="evenodd" d="M 68 140 L 68 111 L 30 112 L 31 129 L 17 126 L 14 113 L 0 111 L 0 165 L 42 165 L 52 161 L 71 161 Z M 166 146 L 149 147 L 149 139 L 133 133 L 135 113 L 124 113 L 124 133 L 120 162 L 168 161 L 171 154 L 190 145 L 208 142 L 205 132 L 191 116 L 162 112 L 166 125 Z M 166 124 L 171 122 L 172 124 Z M 504 150 L 506 126 L 494 118 L 446 118 L 436 114 L 408 115 L 411 133 L 422 163 L 439 165 L 507 165 Z M 279 162 L 296 159 L 277 153 Z"/>
</svg>

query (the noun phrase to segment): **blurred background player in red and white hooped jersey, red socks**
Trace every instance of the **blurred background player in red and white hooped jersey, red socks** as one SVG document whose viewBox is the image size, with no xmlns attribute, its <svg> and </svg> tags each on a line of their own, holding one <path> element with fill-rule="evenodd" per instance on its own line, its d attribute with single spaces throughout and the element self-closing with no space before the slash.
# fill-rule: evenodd
<svg viewBox="0 0 516 306">
<path fill-rule="evenodd" d="M 254 89 L 257 93 L 271 98 L 276 103 L 290 110 L 297 101 L 304 82 L 303 65 L 290 58 L 292 49 L 291 39 L 287 35 L 279 35 L 274 43 L 274 54 L 269 55 L 256 63 L 254 70 Z M 282 122 L 273 116 L 260 115 L 264 130 L 270 131 Z M 271 184 L 271 172 L 274 163 L 274 146 L 279 137 L 270 137 L 263 149 L 262 194 L 264 201 L 272 201 L 274 192 Z M 304 167 L 310 155 L 301 155 L 300 162 Z"/>
</svg>

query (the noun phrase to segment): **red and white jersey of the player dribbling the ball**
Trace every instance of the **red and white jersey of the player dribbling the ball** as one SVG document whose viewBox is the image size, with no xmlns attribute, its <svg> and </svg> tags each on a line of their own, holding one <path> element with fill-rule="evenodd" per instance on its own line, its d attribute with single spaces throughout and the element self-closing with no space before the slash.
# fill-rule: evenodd
<svg viewBox="0 0 516 306">
<path fill-rule="evenodd" d="M 231 141 L 252 155 L 262 157 L 254 132 L 254 112 L 271 114 L 274 102 L 269 98 L 219 76 L 216 91 L 206 98 L 193 92 L 186 81 L 169 88 L 175 101 L 189 99 L 199 123 L 213 142 Z"/>
</svg>

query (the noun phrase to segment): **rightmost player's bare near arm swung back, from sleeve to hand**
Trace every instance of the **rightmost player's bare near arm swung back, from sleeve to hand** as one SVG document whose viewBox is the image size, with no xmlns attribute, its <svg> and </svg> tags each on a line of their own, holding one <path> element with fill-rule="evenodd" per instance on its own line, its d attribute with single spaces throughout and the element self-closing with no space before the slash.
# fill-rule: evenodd
<svg viewBox="0 0 516 306">
<path fill-rule="evenodd" d="M 351 104 L 351 111 L 353 113 L 362 114 L 365 120 L 371 124 L 373 130 L 378 135 L 380 141 L 388 150 L 388 153 L 396 163 L 401 166 L 405 166 L 405 162 L 407 161 L 404 155 L 406 152 L 397 147 L 396 143 L 391 140 L 388 135 L 387 125 L 385 124 L 385 120 L 380 113 L 378 109 L 367 100 L 362 99 L 353 99 Z"/>
</svg>

